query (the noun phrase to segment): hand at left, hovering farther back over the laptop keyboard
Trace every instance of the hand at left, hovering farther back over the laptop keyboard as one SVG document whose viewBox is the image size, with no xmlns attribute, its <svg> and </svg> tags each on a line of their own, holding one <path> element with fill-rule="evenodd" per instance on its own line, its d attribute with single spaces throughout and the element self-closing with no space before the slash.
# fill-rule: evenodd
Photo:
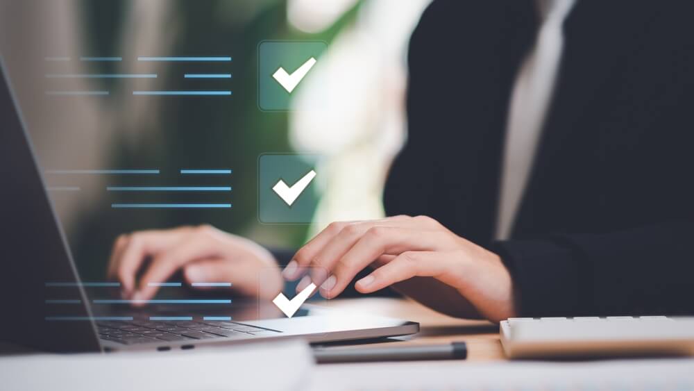
<svg viewBox="0 0 694 391">
<path fill-rule="evenodd" d="M 148 259 L 151 262 L 136 281 Z M 111 254 L 108 278 L 121 283 L 124 299 L 149 300 L 158 290 L 149 283 L 165 282 L 178 269 L 183 269 L 189 283 L 228 281 L 234 290 L 249 297 L 258 294 L 261 269 L 275 269 L 263 273 L 262 291 L 282 289 L 280 270 L 269 251 L 251 240 L 208 225 L 119 236 Z"/>
</svg>

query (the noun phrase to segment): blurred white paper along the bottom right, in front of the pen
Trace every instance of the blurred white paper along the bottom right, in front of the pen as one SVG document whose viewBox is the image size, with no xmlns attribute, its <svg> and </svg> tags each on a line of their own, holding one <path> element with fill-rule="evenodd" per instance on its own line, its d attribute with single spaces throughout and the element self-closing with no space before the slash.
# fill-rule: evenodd
<svg viewBox="0 0 694 391">
<path fill-rule="evenodd" d="M 339 379 L 339 381 L 337 381 Z M 319 365 L 308 390 L 694 390 L 694 360 Z"/>
</svg>

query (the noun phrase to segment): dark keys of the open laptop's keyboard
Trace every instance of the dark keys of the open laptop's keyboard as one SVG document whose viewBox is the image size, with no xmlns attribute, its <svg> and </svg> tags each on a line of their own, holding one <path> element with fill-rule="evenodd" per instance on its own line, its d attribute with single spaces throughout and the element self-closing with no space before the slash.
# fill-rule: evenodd
<svg viewBox="0 0 694 391">
<path fill-rule="evenodd" d="M 97 322 L 99 338 L 119 344 L 194 341 L 211 338 L 253 338 L 276 335 L 280 331 L 235 322 Z"/>
</svg>

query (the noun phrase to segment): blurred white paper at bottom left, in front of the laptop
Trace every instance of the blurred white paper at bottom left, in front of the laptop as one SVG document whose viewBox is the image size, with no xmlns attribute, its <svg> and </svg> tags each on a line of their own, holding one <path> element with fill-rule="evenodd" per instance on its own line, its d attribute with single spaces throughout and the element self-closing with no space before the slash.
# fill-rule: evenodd
<svg viewBox="0 0 694 391">
<path fill-rule="evenodd" d="M 313 358 L 305 342 L 146 353 L 0 358 L 0 390 L 304 390 Z"/>
</svg>

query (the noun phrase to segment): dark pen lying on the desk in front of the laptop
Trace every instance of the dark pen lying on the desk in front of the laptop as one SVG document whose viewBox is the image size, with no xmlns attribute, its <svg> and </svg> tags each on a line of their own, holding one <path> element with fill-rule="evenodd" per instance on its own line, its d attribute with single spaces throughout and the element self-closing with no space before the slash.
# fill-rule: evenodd
<svg viewBox="0 0 694 391">
<path fill-rule="evenodd" d="M 369 361 L 464 360 L 465 342 L 364 348 L 314 348 L 316 363 L 364 363 Z"/>
</svg>

